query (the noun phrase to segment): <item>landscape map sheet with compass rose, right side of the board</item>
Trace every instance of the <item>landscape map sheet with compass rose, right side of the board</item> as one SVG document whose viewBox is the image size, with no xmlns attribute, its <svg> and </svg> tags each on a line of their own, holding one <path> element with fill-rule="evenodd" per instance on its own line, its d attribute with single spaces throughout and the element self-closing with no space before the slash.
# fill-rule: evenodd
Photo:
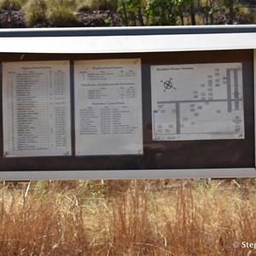
<svg viewBox="0 0 256 256">
<path fill-rule="evenodd" d="M 151 66 L 153 140 L 243 139 L 241 63 Z"/>
</svg>

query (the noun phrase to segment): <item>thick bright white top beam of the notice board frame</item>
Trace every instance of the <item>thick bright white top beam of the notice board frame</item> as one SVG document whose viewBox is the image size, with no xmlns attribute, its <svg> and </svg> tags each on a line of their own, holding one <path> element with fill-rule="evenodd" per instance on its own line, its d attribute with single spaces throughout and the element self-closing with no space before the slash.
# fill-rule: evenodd
<svg viewBox="0 0 256 256">
<path fill-rule="evenodd" d="M 256 26 L 0 30 L 0 52 L 3 53 L 129 53 L 254 49 L 255 42 Z"/>
</svg>

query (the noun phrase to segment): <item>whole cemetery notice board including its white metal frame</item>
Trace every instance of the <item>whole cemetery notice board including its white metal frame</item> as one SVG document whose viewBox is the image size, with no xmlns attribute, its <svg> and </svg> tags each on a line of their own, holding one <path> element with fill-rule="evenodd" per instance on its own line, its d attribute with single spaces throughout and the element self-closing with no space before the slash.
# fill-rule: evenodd
<svg viewBox="0 0 256 256">
<path fill-rule="evenodd" d="M 0 179 L 256 177 L 255 32 L 0 30 Z"/>
</svg>

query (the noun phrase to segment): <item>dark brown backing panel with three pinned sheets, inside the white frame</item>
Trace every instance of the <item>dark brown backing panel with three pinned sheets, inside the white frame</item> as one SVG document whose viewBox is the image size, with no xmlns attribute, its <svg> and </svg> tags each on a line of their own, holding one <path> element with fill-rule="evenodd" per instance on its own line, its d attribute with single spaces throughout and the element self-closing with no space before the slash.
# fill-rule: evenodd
<svg viewBox="0 0 256 256">
<path fill-rule="evenodd" d="M 0 59 L 1 172 L 194 177 L 254 166 L 253 50 Z"/>
</svg>

